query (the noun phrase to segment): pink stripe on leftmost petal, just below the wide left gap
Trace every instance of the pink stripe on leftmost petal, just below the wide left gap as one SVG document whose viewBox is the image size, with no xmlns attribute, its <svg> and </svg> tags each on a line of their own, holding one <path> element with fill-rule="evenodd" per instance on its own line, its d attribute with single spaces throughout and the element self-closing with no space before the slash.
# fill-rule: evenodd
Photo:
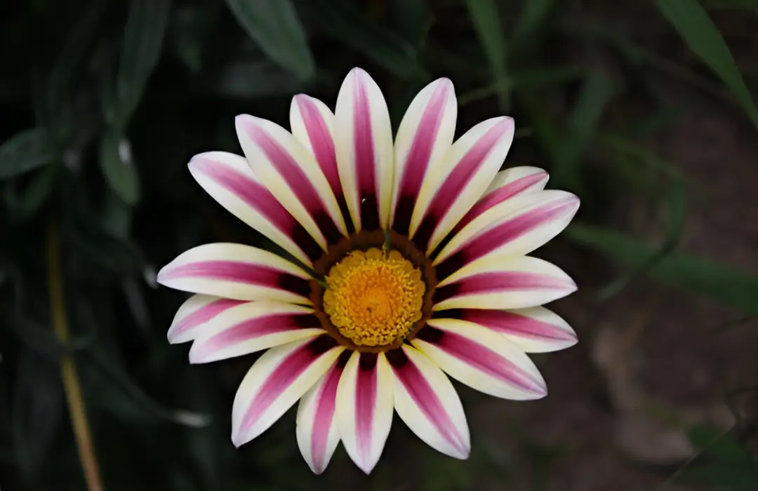
<svg viewBox="0 0 758 491">
<path fill-rule="evenodd" d="M 243 261 L 196 261 L 164 270 L 164 280 L 177 278 L 205 278 L 249 285 L 268 286 L 295 292 L 306 298 L 311 287 L 308 280 L 283 273 L 273 267 Z"/>
</svg>

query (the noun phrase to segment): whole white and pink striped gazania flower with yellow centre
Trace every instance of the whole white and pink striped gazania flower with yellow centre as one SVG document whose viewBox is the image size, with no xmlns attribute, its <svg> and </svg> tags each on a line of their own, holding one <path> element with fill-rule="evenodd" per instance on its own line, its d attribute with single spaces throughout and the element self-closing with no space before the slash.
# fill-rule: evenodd
<svg viewBox="0 0 758 491">
<path fill-rule="evenodd" d="M 430 83 L 393 142 L 381 90 L 356 68 L 334 114 L 296 95 L 291 133 L 243 114 L 244 157 L 189 162 L 200 186 L 283 249 L 200 245 L 158 274 L 196 293 L 168 332 L 170 342 L 193 341 L 189 361 L 268 350 L 236 393 L 236 446 L 299 400 L 297 442 L 315 473 L 340 442 L 369 473 L 393 411 L 434 449 L 466 458 L 468 424 L 448 377 L 505 399 L 545 396 L 526 353 L 576 342 L 540 307 L 576 286 L 527 254 L 563 230 L 579 202 L 543 190 L 543 170 L 498 172 L 509 117 L 453 142 L 456 105 L 453 83 Z"/>
</svg>

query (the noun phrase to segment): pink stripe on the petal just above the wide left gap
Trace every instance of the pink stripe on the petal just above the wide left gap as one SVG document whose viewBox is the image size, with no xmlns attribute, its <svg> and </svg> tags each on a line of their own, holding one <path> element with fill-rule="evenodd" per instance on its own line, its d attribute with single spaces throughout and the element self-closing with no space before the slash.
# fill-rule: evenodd
<svg viewBox="0 0 758 491">
<path fill-rule="evenodd" d="M 321 257 L 323 250 L 318 243 L 262 183 L 250 179 L 245 174 L 222 162 L 209 160 L 202 156 L 193 158 L 189 165 L 236 195 L 246 205 L 271 222 L 281 233 L 292 237 L 310 259 L 315 260 Z"/>
</svg>

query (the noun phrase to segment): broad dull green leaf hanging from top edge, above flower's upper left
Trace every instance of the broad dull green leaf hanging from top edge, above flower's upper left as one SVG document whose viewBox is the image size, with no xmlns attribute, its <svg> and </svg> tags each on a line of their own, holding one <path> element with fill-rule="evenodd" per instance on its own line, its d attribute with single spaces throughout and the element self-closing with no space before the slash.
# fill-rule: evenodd
<svg viewBox="0 0 758 491">
<path fill-rule="evenodd" d="M 290 0 L 227 0 L 227 5 L 269 58 L 300 80 L 313 77 L 316 64 Z"/>
</svg>

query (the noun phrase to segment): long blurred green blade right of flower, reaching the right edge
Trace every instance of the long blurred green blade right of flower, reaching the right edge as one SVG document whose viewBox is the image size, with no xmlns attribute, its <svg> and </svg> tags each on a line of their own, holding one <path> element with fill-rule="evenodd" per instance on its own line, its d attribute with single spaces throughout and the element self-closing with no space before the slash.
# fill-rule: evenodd
<svg viewBox="0 0 758 491">
<path fill-rule="evenodd" d="M 655 253 L 649 243 L 616 230 L 573 224 L 569 239 L 594 249 L 613 261 L 641 267 Z M 735 267 L 681 252 L 672 253 L 650 270 L 650 276 L 662 283 L 678 286 L 720 302 L 723 305 L 758 313 L 758 277 Z"/>
</svg>

